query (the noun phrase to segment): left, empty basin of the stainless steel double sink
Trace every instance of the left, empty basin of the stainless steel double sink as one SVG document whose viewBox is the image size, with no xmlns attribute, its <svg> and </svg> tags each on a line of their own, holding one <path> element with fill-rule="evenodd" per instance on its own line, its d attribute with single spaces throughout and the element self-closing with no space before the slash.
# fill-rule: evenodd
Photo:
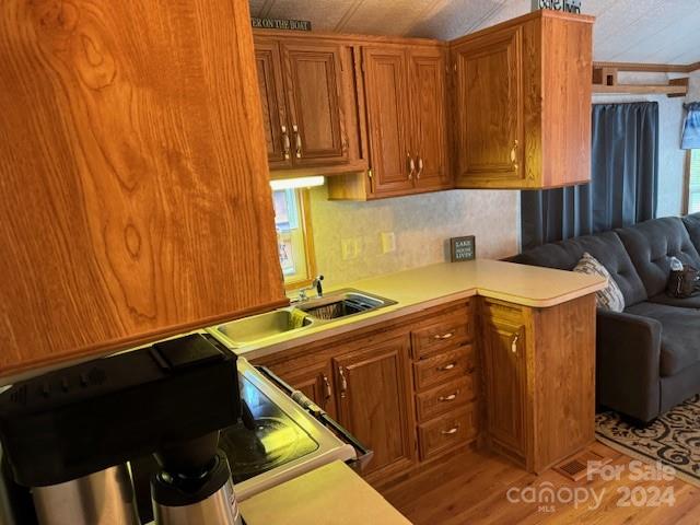
<svg viewBox="0 0 700 525">
<path fill-rule="evenodd" d="M 234 347 L 244 347 L 259 342 L 280 334 L 294 332 L 312 326 L 312 317 L 295 318 L 291 310 L 276 310 L 266 314 L 254 315 L 243 319 L 232 320 L 217 327 L 217 331 L 224 335 Z M 296 326 L 301 324 L 301 326 Z"/>
</svg>

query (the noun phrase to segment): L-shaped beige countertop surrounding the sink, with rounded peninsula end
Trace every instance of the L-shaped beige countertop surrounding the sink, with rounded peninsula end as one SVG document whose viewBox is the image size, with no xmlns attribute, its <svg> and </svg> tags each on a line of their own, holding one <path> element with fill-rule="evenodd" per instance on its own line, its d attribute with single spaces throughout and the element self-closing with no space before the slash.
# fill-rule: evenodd
<svg viewBox="0 0 700 525">
<path fill-rule="evenodd" d="M 233 350 L 246 359 L 262 358 L 320 338 L 346 334 L 382 320 L 474 295 L 546 308 L 594 293 L 605 285 L 606 280 L 598 276 L 500 260 L 440 262 L 348 282 L 327 290 L 332 292 L 332 290 L 352 288 L 390 299 L 396 301 L 396 304 L 330 323 L 290 330 L 256 343 L 233 348 Z M 215 334 L 213 327 L 209 330 Z"/>
</svg>

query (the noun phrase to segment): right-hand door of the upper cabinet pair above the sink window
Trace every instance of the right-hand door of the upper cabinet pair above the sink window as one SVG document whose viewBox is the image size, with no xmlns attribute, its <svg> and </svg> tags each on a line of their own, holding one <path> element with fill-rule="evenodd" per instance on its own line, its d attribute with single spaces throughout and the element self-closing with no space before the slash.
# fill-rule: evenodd
<svg viewBox="0 0 700 525">
<path fill-rule="evenodd" d="M 294 166 L 348 162 L 340 46 L 285 40 L 282 56 Z"/>
</svg>

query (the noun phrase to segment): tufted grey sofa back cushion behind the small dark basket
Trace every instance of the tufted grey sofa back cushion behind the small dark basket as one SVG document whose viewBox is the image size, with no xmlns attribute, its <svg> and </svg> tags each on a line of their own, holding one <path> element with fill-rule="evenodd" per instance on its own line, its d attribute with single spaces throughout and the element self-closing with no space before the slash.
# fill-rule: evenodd
<svg viewBox="0 0 700 525">
<path fill-rule="evenodd" d="M 649 298 L 666 290 L 672 257 L 700 268 L 700 254 L 677 217 L 653 219 L 616 232 L 642 278 Z"/>
</svg>

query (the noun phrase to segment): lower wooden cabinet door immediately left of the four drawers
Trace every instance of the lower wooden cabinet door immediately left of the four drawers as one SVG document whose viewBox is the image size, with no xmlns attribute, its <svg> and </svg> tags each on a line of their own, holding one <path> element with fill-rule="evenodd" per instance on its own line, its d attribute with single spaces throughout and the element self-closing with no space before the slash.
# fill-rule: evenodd
<svg viewBox="0 0 700 525">
<path fill-rule="evenodd" d="M 374 457 L 364 475 L 370 480 L 401 471 L 415 457 L 415 430 L 409 369 L 409 336 L 401 336 L 334 359 L 341 424 Z"/>
</svg>

